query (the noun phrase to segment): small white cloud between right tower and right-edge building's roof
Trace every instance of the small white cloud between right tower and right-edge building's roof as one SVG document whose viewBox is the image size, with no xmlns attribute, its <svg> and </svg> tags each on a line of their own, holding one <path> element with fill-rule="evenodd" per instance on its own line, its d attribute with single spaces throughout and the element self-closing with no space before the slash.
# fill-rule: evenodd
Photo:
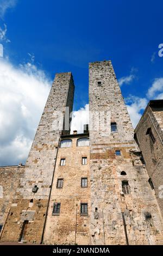
<svg viewBox="0 0 163 256">
<path fill-rule="evenodd" d="M 126 99 L 126 103 L 127 103 L 127 110 L 130 115 L 131 123 L 135 128 L 141 118 L 141 115 L 142 115 L 141 111 L 143 111 L 146 108 L 148 100 L 146 98 L 129 96 Z"/>
</svg>

